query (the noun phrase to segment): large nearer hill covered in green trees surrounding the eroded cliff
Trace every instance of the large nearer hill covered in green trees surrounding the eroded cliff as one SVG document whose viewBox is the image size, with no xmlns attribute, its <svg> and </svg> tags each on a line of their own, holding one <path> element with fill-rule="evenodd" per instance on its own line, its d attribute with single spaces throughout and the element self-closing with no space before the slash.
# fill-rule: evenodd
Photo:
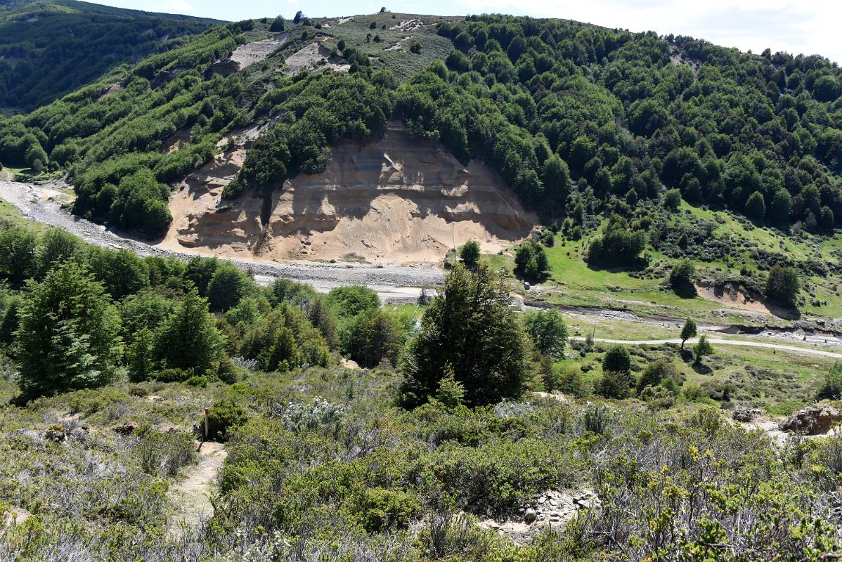
<svg viewBox="0 0 842 562">
<path fill-rule="evenodd" d="M 258 63 L 226 66 L 237 45 L 282 30 Z M 323 55 L 290 68 L 305 48 Z M 331 68 L 340 72 L 316 72 Z M 271 125 L 226 189 L 235 198 L 322 171 L 329 146 L 381 138 L 391 116 L 463 162 L 488 162 L 573 238 L 599 215 L 645 231 L 643 203 L 664 188 L 823 232 L 842 220 L 840 80 L 819 56 L 754 56 L 565 20 L 267 19 L 148 58 L 119 92 L 104 96 L 100 83 L 8 119 L 0 161 L 65 167 L 77 213 L 161 233 L 168 184 L 209 162 L 226 133 Z M 163 150 L 176 131 L 186 141 Z"/>
</svg>

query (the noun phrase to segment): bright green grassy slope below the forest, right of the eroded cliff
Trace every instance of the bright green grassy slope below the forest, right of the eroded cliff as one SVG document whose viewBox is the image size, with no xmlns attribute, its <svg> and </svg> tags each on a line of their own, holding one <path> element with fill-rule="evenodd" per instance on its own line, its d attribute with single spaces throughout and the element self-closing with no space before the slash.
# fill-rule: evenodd
<svg viewBox="0 0 842 562">
<path fill-rule="evenodd" d="M 786 253 L 793 261 L 813 259 L 820 262 L 836 262 L 839 257 L 834 252 L 842 249 L 842 235 L 820 237 L 808 234 L 784 236 L 780 231 L 769 227 L 751 225 L 744 219 L 738 219 L 725 211 L 693 207 L 682 203 L 672 219 L 674 223 L 690 220 L 709 220 L 717 227 L 713 236 L 717 238 L 733 237 L 739 247 L 733 257 L 727 260 L 696 262 L 699 278 L 738 277 L 740 268 L 756 268 L 757 264 L 749 257 L 749 252 Z M 727 307 L 721 303 L 705 300 L 699 296 L 685 298 L 675 294 L 666 283 L 669 269 L 677 260 L 667 257 L 647 246 L 645 252 L 650 258 L 646 271 L 632 269 L 591 268 L 584 260 L 590 241 L 598 236 L 599 231 L 591 233 L 579 241 L 565 241 L 556 236 L 553 247 L 546 248 L 550 264 L 550 275 L 541 284 L 537 284 L 526 294 L 520 282 L 514 283 L 512 271 L 514 257 L 511 251 L 483 257 L 488 264 L 504 275 L 512 278 L 513 289 L 525 294 L 532 300 L 544 301 L 553 305 L 601 307 L 607 309 L 631 310 L 638 315 L 663 315 L 670 317 L 692 316 L 696 320 L 717 323 L 737 323 L 744 325 L 787 326 L 791 321 L 773 316 L 759 317 L 737 307 Z M 820 278 L 813 276 L 802 279 L 806 302 L 799 307 L 802 317 L 837 317 L 842 315 L 842 295 L 834 277 Z M 809 292 L 807 292 L 809 291 Z M 816 305 L 815 303 L 827 303 Z"/>
</svg>

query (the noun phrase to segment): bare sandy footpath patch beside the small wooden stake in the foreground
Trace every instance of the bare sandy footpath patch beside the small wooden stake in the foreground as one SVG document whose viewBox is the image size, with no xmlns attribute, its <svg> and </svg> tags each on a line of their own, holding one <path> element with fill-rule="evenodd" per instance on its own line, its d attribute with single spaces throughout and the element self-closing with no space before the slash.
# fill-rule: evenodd
<svg viewBox="0 0 842 562">
<path fill-rule="evenodd" d="M 196 446 L 199 446 L 198 442 Z M 184 480 L 169 489 L 173 515 L 167 532 L 171 536 L 184 536 L 213 515 L 210 496 L 216 492 L 216 479 L 228 453 L 222 443 L 206 442 L 201 444 L 199 454 L 199 464 Z"/>
</svg>

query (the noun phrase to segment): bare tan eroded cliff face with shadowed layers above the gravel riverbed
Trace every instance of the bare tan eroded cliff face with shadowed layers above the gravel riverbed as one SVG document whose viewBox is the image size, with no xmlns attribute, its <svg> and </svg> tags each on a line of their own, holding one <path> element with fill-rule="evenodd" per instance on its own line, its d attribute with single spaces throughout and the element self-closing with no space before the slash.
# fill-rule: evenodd
<svg viewBox="0 0 842 562">
<path fill-rule="evenodd" d="M 222 203 L 244 155 L 242 146 L 222 151 L 179 185 L 163 245 L 266 259 L 431 262 L 472 238 L 496 251 L 537 222 L 482 162 L 464 167 L 394 123 L 378 142 L 335 147 L 324 172 L 287 181 L 271 199 L 248 193 Z"/>
</svg>

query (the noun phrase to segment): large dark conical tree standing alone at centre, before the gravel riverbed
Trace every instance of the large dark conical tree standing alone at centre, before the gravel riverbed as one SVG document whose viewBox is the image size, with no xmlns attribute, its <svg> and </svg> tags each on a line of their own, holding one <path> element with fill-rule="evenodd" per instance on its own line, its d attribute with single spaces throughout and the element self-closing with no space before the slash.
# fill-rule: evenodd
<svg viewBox="0 0 842 562">
<path fill-rule="evenodd" d="M 427 308 L 402 365 L 402 398 L 417 406 L 436 395 L 452 369 L 466 403 L 493 404 L 522 395 L 529 383 L 528 336 L 509 310 L 509 289 L 480 264 L 461 264 Z"/>
</svg>

